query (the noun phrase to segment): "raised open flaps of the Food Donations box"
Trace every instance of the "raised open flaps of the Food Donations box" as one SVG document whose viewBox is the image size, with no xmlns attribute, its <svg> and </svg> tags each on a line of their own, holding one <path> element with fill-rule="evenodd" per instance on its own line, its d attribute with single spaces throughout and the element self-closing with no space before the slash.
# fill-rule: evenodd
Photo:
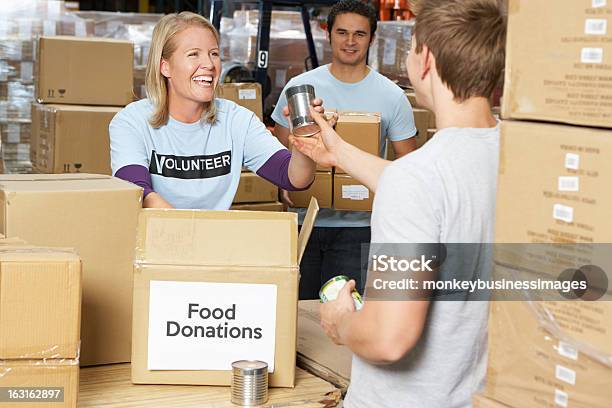
<svg viewBox="0 0 612 408">
<path fill-rule="evenodd" d="M 314 200 L 298 236 L 295 213 L 144 209 L 136 262 L 295 267 L 317 212 Z"/>
</svg>

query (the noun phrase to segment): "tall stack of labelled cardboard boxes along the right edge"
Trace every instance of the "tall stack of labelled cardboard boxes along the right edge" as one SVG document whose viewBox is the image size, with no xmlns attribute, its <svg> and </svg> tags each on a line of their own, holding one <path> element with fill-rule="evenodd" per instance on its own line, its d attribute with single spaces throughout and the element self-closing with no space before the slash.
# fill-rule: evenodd
<svg viewBox="0 0 612 408">
<path fill-rule="evenodd" d="M 511 0 L 509 11 L 502 115 L 510 120 L 501 127 L 495 242 L 574 244 L 557 245 L 553 255 L 588 259 L 585 252 L 571 254 L 575 244 L 597 251 L 612 239 L 612 130 L 604 129 L 612 128 L 606 24 L 612 6 Z M 538 269 L 533 262 L 542 258 L 530 252 L 537 247 L 524 248 L 506 266 Z M 496 260 L 511 259 L 500 258 L 504 253 Z M 504 269 L 496 262 L 495 272 Z M 606 286 L 599 301 L 494 302 L 486 397 L 509 407 L 609 407 L 612 303 Z M 498 406 L 483 401 L 477 406 Z"/>
</svg>

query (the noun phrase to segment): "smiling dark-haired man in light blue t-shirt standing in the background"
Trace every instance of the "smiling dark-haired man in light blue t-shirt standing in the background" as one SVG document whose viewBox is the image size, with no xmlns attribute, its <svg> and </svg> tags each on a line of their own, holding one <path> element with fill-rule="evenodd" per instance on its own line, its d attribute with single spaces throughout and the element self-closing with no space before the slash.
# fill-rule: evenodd
<svg viewBox="0 0 612 408">
<path fill-rule="evenodd" d="M 311 84 L 329 109 L 381 113 L 381 157 L 387 139 L 397 158 L 416 149 L 417 130 L 406 95 L 366 64 L 376 32 L 374 8 L 359 0 L 342 0 L 331 8 L 327 30 L 332 62 L 287 83 L 272 113 L 276 136 L 288 145 L 289 124 L 283 116 L 287 105 L 285 90 L 294 85 Z M 284 196 L 287 200 L 286 193 Z M 303 211 L 297 211 L 301 221 Z M 361 289 L 365 282 L 361 244 L 369 242 L 369 212 L 322 209 L 300 265 L 300 299 L 318 298 L 321 285 L 337 275 L 355 279 Z"/>
</svg>

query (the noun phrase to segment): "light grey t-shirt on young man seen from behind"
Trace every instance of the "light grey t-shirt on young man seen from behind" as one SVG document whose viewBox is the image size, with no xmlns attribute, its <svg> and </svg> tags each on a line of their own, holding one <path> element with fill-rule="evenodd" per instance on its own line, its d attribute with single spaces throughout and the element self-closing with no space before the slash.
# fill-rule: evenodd
<svg viewBox="0 0 612 408">
<path fill-rule="evenodd" d="M 493 242 L 498 162 L 499 126 L 440 130 L 385 169 L 372 242 Z M 353 358 L 345 406 L 470 407 L 486 372 L 487 313 L 487 302 L 432 302 L 421 339 L 402 360 Z"/>
</svg>

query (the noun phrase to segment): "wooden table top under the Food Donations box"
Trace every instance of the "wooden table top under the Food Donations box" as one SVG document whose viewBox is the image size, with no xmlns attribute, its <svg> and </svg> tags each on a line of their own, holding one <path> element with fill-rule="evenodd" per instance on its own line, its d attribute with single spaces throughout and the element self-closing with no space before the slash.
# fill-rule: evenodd
<svg viewBox="0 0 612 408">
<path fill-rule="evenodd" d="M 81 369 L 79 407 L 237 407 L 230 402 L 229 387 L 192 385 L 133 385 L 129 364 Z M 340 390 L 296 370 L 295 388 L 270 388 L 265 407 L 330 408 L 338 405 Z"/>
</svg>

